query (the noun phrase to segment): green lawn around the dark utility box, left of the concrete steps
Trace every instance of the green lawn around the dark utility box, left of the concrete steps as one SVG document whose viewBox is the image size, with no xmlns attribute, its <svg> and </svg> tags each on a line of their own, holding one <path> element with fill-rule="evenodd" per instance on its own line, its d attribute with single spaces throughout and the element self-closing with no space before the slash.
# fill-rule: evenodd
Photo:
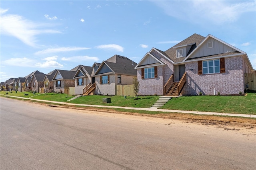
<svg viewBox="0 0 256 170">
<path fill-rule="evenodd" d="M 102 103 L 102 98 L 111 98 L 111 103 Z M 71 100 L 68 103 L 74 104 L 91 104 L 103 106 L 124 106 L 124 107 L 151 107 L 159 98 L 159 96 L 138 96 L 138 100 L 134 100 L 136 96 L 100 96 L 89 95 Z"/>
</svg>

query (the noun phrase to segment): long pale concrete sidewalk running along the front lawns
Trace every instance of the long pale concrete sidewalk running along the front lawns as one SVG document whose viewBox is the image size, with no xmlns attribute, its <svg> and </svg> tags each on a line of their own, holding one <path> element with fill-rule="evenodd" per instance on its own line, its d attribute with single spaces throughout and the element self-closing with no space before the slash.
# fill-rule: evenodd
<svg viewBox="0 0 256 170">
<path fill-rule="evenodd" d="M 141 107 L 100 106 L 100 105 L 89 105 L 89 104 L 72 104 L 72 103 L 67 103 L 67 102 L 54 102 L 54 101 L 49 101 L 49 100 L 24 98 L 24 97 L 18 97 L 18 96 L 10 96 L 10 97 L 21 98 L 21 99 L 30 99 L 30 100 L 42 101 L 42 102 L 51 102 L 51 103 L 56 103 L 56 104 L 74 105 L 74 106 L 77 105 L 77 106 L 88 106 L 88 107 L 122 108 L 122 109 L 146 110 L 146 111 L 193 113 L 193 114 L 198 114 L 198 115 L 222 115 L 222 116 L 239 116 L 239 117 L 253 117 L 253 118 L 256 118 L 256 115 L 251 115 L 251 114 L 217 113 L 217 112 L 186 111 L 186 110 L 169 110 L 169 109 L 158 109 L 157 107 L 141 108 Z"/>
</svg>

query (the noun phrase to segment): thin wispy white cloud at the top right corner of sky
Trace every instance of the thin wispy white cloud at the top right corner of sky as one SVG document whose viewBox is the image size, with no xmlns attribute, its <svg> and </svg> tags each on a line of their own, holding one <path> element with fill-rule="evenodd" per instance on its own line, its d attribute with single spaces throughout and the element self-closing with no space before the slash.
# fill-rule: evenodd
<svg viewBox="0 0 256 170">
<path fill-rule="evenodd" d="M 256 1 L 151 1 L 167 15 L 193 23 L 222 24 L 238 20 L 246 12 L 254 12 Z M 180 8 L 182 6 L 182 8 Z"/>
</svg>

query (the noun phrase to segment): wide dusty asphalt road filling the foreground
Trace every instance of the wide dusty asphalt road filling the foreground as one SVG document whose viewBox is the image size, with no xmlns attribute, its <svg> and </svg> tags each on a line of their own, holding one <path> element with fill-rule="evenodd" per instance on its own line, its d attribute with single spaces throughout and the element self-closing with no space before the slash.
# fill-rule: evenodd
<svg viewBox="0 0 256 170">
<path fill-rule="evenodd" d="M 239 129 L 0 98 L 1 170 L 255 170 Z"/>
</svg>

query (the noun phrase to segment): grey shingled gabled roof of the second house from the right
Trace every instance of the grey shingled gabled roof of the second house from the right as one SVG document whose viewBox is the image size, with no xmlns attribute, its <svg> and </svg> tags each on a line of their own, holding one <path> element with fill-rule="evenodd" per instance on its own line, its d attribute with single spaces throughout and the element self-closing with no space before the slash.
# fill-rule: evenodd
<svg viewBox="0 0 256 170">
<path fill-rule="evenodd" d="M 127 57 L 114 55 L 113 57 L 110 57 L 108 60 L 103 61 L 100 64 L 100 67 L 95 72 L 94 76 L 100 75 L 98 74 L 98 72 L 101 70 L 102 66 L 105 64 L 106 66 L 108 66 L 111 72 L 104 72 L 101 74 L 123 74 L 123 75 L 132 75 L 132 76 L 137 75 L 137 70 L 134 69 L 137 63 L 128 59 Z"/>
</svg>

